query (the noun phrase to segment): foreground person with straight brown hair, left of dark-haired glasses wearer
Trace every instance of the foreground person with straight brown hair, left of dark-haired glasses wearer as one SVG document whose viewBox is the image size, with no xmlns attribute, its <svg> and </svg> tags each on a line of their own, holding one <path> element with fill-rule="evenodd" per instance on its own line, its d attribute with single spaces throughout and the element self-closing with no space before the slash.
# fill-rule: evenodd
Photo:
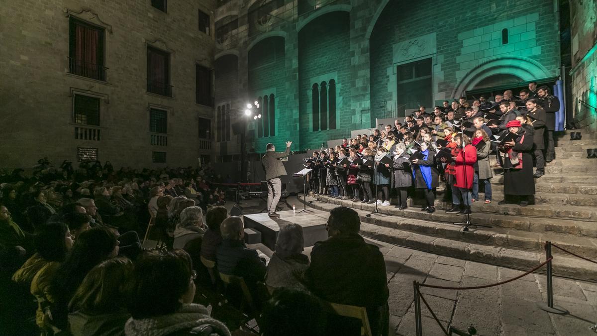
<svg viewBox="0 0 597 336">
<path fill-rule="evenodd" d="M 92 268 L 70 300 L 70 334 L 124 335 L 131 317 L 125 302 L 132 274 L 128 258 L 108 259 Z"/>
</svg>

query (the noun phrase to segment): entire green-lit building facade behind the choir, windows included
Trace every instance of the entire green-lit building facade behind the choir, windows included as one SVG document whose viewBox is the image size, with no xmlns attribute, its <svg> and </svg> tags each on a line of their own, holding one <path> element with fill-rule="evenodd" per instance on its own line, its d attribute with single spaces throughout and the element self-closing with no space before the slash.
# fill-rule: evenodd
<svg viewBox="0 0 597 336">
<path fill-rule="evenodd" d="M 484 87 L 553 83 L 561 75 L 553 1 L 223 0 L 218 6 L 216 105 L 229 102 L 220 90 L 235 90 L 233 115 L 239 124 L 247 121 L 249 146 L 258 152 L 285 140 L 297 150 L 319 148 L 418 105 Z M 235 88 L 220 85 L 227 83 L 217 75 L 220 57 L 226 69 L 238 65 Z M 271 94 L 275 111 L 267 120 L 242 117 L 247 102 Z M 217 148 L 238 153 L 238 140 L 223 142 Z"/>
</svg>

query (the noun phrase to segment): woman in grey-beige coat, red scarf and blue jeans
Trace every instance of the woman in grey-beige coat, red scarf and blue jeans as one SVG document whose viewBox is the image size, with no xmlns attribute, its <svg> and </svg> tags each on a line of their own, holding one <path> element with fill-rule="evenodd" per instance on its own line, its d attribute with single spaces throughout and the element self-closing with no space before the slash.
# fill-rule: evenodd
<svg viewBox="0 0 597 336">
<path fill-rule="evenodd" d="M 479 148 L 481 142 L 485 144 Z M 473 193 L 472 200 L 479 200 L 479 182 L 484 186 L 485 204 L 491 203 L 491 181 L 493 173 L 489 163 L 489 152 L 491 149 L 491 142 L 489 136 L 483 129 L 476 129 L 471 145 L 475 146 L 477 151 L 477 161 L 475 163 L 475 178 L 473 179 Z"/>
</svg>

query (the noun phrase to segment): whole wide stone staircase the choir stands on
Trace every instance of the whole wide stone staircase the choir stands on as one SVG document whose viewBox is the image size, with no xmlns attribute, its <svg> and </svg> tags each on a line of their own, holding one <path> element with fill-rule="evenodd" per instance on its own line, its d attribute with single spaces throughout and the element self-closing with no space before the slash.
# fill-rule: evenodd
<svg viewBox="0 0 597 336">
<path fill-rule="evenodd" d="M 364 236 L 439 255 L 529 270 L 545 260 L 543 246 L 550 241 L 597 261 L 597 159 L 587 159 L 585 150 L 597 148 L 597 140 L 570 141 L 565 132 L 557 145 L 556 160 L 547 165 L 546 175 L 535 179 L 536 204 L 498 205 L 503 199 L 503 175 L 494 176 L 494 201 L 484 204 L 480 191 L 481 201 L 473 203 L 471 216 L 472 223 L 479 226 L 467 232 L 461 230 L 465 218 L 441 209 L 450 206 L 442 200 L 441 188 L 434 213 L 421 212 L 419 201 L 414 200 L 409 200 L 406 210 L 380 206 L 380 213 L 369 217 L 365 215 L 373 212 L 373 204 L 319 196 L 327 203 L 309 205 L 327 211 L 339 205 L 353 207 L 361 215 Z M 556 248 L 553 255 L 556 275 L 597 281 L 597 264 Z"/>
</svg>

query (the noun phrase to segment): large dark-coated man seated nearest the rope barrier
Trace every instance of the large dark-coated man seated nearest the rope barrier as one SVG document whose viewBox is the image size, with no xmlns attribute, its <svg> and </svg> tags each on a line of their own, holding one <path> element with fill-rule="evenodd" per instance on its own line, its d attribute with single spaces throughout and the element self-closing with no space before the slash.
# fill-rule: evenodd
<svg viewBox="0 0 597 336">
<path fill-rule="evenodd" d="M 315 243 L 304 273 L 307 288 L 323 300 L 367 308 L 373 334 L 387 334 L 389 290 L 379 248 L 359 236 L 359 215 L 348 207 L 331 210 L 325 227 L 329 238 Z"/>
</svg>

